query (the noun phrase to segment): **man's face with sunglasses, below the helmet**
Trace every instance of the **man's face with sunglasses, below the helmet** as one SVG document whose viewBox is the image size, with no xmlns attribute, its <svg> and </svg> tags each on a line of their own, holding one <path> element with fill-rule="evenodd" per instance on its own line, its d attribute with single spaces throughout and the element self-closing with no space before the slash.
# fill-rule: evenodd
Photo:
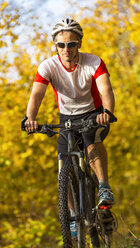
<svg viewBox="0 0 140 248">
<path fill-rule="evenodd" d="M 78 41 L 78 37 L 73 32 L 60 32 L 56 36 L 56 42 L 70 42 L 70 41 Z M 63 62 L 71 62 L 75 56 L 77 55 L 78 48 L 81 47 L 81 41 L 77 43 L 77 45 L 73 48 L 69 48 L 68 46 L 65 46 L 65 48 L 60 48 L 58 45 L 56 45 L 58 54 L 60 58 L 63 60 Z"/>
</svg>

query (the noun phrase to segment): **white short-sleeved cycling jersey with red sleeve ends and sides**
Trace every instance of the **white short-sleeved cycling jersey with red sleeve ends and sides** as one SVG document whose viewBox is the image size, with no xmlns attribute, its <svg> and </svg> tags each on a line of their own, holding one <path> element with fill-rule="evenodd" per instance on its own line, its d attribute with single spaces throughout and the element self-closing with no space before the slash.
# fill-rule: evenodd
<svg viewBox="0 0 140 248">
<path fill-rule="evenodd" d="M 96 55 L 79 53 L 73 71 L 63 66 L 58 55 L 44 60 L 38 67 L 34 82 L 51 83 L 60 113 L 76 115 L 90 112 L 102 105 L 96 79 L 108 73 L 104 62 Z"/>
</svg>

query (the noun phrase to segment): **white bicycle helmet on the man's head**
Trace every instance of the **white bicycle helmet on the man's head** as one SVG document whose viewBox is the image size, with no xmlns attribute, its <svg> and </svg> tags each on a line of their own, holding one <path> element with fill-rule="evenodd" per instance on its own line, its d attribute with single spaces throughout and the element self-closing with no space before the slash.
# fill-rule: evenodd
<svg viewBox="0 0 140 248">
<path fill-rule="evenodd" d="M 73 19 L 66 18 L 63 19 L 62 21 L 59 21 L 55 24 L 53 30 L 52 30 L 52 38 L 53 40 L 55 39 L 55 36 L 61 32 L 61 31 L 73 31 L 77 33 L 80 38 L 82 39 L 83 37 L 83 30 L 80 26 L 80 24 Z"/>
</svg>

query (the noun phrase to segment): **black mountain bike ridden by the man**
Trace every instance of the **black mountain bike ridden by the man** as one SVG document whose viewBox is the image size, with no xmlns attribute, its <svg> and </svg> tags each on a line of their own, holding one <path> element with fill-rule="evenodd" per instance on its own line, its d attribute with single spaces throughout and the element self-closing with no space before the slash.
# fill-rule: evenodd
<svg viewBox="0 0 140 248">
<path fill-rule="evenodd" d="M 21 129 L 24 131 L 26 120 L 27 117 L 21 123 Z M 112 114 L 110 120 L 114 122 L 117 119 Z M 79 122 L 67 120 L 64 124 L 39 125 L 37 131 L 29 133 L 42 133 L 49 137 L 60 134 L 67 140 L 68 152 L 58 154 L 59 216 L 64 248 L 87 248 L 89 240 L 94 248 L 101 247 L 102 240 L 105 248 L 110 248 L 113 231 L 117 229 L 117 219 L 111 211 L 111 206 L 97 205 L 98 180 L 89 166 L 86 147 L 81 150 L 74 136 L 74 131 L 81 133 L 97 126 L 106 127 L 97 125 L 92 119 L 81 119 Z M 54 130 L 58 128 L 63 128 L 63 131 Z M 76 237 L 71 236 L 71 221 L 76 222 Z"/>
</svg>

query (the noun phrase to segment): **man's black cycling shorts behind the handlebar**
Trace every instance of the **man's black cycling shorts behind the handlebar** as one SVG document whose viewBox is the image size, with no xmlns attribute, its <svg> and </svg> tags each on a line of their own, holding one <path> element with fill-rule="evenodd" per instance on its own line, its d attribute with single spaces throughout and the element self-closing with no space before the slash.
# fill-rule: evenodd
<svg viewBox="0 0 140 248">
<path fill-rule="evenodd" d="M 80 115 L 60 114 L 60 123 L 64 123 L 68 119 L 74 120 L 75 122 L 76 121 L 78 122 L 80 119 L 96 120 L 96 116 L 102 112 L 103 112 L 103 107 L 101 106 L 100 108 L 98 108 L 94 111 L 87 112 L 87 113 L 80 114 Z M 60 131 L 62 131 L 62 130 L 63 130 L 63 128 Z M 91 129 L 87 132 L 83 132 L 83 133 L 75 132 L 75 138 L 76 138 L 76 141 L 79 140 L 79 146 L 83 141 L 84 144 L 86 145 L 86 147 L 88 147 L 91 144 L 102 142 L 105 139 L 105 137 L 107 136 L 108 132 L 109 132 L 109 125 L 106 128 L 105 127 L 100 127 L 97 129 L 93 128 L 93 129 Z M 67 132 L 65 132 L 65 135 L 67 136 Z M 61 153 L 67 152 L 67 141 L 65 140 L 65 138 L 62 135 L 59 135 L 59 138 L 58 138 L 58 153 L 60 153 L 60 152 Z"/>
</svg>

